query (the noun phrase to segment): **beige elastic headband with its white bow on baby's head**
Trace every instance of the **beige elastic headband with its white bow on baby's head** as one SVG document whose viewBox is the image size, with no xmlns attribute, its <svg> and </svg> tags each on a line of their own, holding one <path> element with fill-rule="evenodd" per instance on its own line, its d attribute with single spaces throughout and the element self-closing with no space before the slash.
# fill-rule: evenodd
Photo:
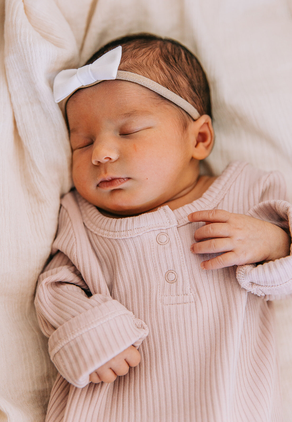
<svg viewBox="0 0 292 422">
<path fill-rule="evenodd" d="M 145 76 L 136 73 L 117 70 L 120 64 L 121 54 L 122 47 L 118 46 L 99 57 L 90 65 L 82 66 L 79 69 L 62 70 L 57 74 L 54 81 L 55 102 L 59 103 L 62 101 L 61 108 L 65 111 L 65 104 L 78 89 L 91 87 L 102 81 L 120 79 L 134 82 L 135 84 L 151 89 L 151 91 L 156 92 L 182 108 L 194 120 L 199 118 L 199 112 L 188 101 L 157 82 L 152 81 L 152 79 L 145 78 Z"/>
</svg>

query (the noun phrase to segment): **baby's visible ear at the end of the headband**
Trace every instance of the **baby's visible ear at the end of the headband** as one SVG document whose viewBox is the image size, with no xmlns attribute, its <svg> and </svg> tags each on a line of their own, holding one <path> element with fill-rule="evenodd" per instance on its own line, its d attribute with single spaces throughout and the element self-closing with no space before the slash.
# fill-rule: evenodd
<svg viewBox="0 0 292 422">
<path fill-rule="evenodd" d="M 210 116 L 203 114 L 191 125 L 194 140 L 193 157 L 196 160 L 204 160 L 213 148 L 214 130 L 212 120 Z"/>
</svg>

